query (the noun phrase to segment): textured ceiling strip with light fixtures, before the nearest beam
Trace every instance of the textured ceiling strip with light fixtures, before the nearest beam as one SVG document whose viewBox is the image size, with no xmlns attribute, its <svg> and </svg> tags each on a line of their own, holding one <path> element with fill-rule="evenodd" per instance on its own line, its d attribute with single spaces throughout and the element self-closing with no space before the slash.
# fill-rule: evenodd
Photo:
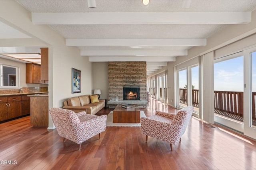
<svg viewBox="0 0 256 170">
<path fill-rule="evenodd" d="M 192 0 L 190 8 L 181 8 L 182 0 L 96 0 L 89 9 L 87 0 L 17 0 L 30 12 L 245 12 L 252 11 L 255 0 Z"/>
</svg>

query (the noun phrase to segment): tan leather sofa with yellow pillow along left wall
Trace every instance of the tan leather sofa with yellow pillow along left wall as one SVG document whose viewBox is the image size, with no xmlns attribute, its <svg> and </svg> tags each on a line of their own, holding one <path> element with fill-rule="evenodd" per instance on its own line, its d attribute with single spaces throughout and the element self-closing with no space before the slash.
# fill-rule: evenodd
<svg viewBox="0 0 256 170">
<path fill-rule="evenodd" d="M 78 113 L 80 111 L 86 111 L 87 114 L 95 115 L 98 111 L 105 107 L 105 100 L 99 99 L 99 102 L 91 103 L 90 95 L 78 96 L 69 98 L 64 102 L 63 109 L 69 109 Z"/>
</svg>

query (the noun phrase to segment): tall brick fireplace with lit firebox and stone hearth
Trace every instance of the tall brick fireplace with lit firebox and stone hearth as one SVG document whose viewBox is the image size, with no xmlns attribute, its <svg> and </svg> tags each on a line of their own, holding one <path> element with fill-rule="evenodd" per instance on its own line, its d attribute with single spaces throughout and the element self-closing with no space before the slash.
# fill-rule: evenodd
<svg viewBox="0 0 256 170">
<path fill-rule="evenodd" d="M 108 62 L 108 106 L 117 104 L 138 104 L 139 107 L 147 105 L 147 78 L 145 61 Z M 135 90 L 136 94 L 127 94 L 124 87 Z M 133 92 L 134 93 L 134 92 Z M 135 98 L 136 97 L 136 98 Z M 118 99 L 118 101 L 116 101 Z"/>
</svg>

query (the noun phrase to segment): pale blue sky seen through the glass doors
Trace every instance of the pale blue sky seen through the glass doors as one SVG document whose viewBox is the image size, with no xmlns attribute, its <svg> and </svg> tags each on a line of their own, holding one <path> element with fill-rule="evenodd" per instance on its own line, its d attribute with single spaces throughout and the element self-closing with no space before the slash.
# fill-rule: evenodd
<svg viewBox="0 0 256 170">
<path fill-rule="evenodd" d="M 214 63 L 214 90 L 243 92 L 244 57 Z M 192 84 L 198 89 L 198 66 L 191 69 Z M 186 84 L 186 70 L 179 71 L 180 88 Z M 252 91 L 256 92 L 256 52 L 252 53 Z"/>
</svg>

